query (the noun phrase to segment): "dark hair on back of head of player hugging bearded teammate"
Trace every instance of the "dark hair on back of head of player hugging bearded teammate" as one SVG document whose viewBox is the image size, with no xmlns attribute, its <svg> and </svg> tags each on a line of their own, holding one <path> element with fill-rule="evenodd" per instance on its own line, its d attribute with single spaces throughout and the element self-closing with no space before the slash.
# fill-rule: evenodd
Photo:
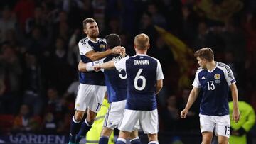
<svg viewBox="0 0 256 144">
<path fill-rule="evenodd" d="M 111 33 L 110 35 L 107 35 L 105 38 L 107 42 L 107 48 L 112 49 L 116 46 L 121 45 L 121 38 L 119 37 L 119 35 L 115 33 Z"/>
</svg>

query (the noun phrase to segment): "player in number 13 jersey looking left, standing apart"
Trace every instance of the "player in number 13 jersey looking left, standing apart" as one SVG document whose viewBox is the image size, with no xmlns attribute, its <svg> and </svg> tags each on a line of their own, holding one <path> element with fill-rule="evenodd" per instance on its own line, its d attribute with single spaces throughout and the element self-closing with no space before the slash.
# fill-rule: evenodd
<svg viewBox="0 0 256 144">
<path fill-rule="evenodd" d="M 193 81 L 193 89 L 189 94 L 185 109 L 181 111 L 181 118 L 186 118 L 188 110 L 202 90 L 200 104 L 200 125 L 203 144 L 210 144 L 213 132 L 218 135 L 218 143 L 227 144 L 230 135 L 230 116 L 228 108 L 228 90 L 231 89 L 233 98 L 233 120 L 240 119 L 238 109 L 238 89 L 235 84 L 233 72 L 228 65 L 214 61 L 213 50 L 202 48 L 195 52 L 198 60 L 196 77 Z"/>
</svg>

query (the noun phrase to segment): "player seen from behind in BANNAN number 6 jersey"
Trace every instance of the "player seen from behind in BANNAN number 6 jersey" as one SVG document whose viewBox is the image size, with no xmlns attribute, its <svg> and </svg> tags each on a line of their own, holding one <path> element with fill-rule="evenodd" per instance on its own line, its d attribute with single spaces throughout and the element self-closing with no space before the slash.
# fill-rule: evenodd
<svg viewBox="0 0 256 144">
<path fill-rule="evenodd" d="M 149 143 L 158 144 L 158 112 L 156 94 L 163 86 L 164 75 L 159 60 L 146 55 L 149 49 L 149 37 L 142 33 L 134 38 L 136 55 L 124 57 L 118 62 L 109 61 L 95 68 L 125 70 L 127 73 L 127 102 L 122 122 L 119 125 L 117 144 L 126 143 L 126 139 L 139 121 Z"/>
</svg>

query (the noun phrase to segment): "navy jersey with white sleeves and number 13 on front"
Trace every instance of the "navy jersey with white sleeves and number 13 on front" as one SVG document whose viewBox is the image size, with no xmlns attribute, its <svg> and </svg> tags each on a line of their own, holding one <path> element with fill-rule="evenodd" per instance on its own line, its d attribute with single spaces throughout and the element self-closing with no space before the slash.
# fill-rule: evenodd
<svg viewBox="0 0 256 144">
<path fill-rule="evenodd" d="M 200 88 L 203 94 L 200 113 L 209 116 L 228 115 L 229 86 L 235 82 L 232 70 L 224 63 L 216 62 L 211 72 L 199 68 L 192 85 Z"/>
</svg>

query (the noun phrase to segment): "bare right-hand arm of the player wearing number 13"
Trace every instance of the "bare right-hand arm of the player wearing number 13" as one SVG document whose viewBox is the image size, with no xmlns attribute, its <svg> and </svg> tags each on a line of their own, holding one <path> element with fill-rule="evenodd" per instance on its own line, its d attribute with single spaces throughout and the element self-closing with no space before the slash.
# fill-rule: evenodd
<svg viewBox="0 0 256 144">
<path fill-rule="evenodd" d="M 235 83 L 230 85 L 230 90 L 233 99 L 232 120 L 235 121 L 235 123 L 238 123 L 238 121 L 240 120 L 240 112 L 238 107 L 238 89 Z"/>
</svg>

